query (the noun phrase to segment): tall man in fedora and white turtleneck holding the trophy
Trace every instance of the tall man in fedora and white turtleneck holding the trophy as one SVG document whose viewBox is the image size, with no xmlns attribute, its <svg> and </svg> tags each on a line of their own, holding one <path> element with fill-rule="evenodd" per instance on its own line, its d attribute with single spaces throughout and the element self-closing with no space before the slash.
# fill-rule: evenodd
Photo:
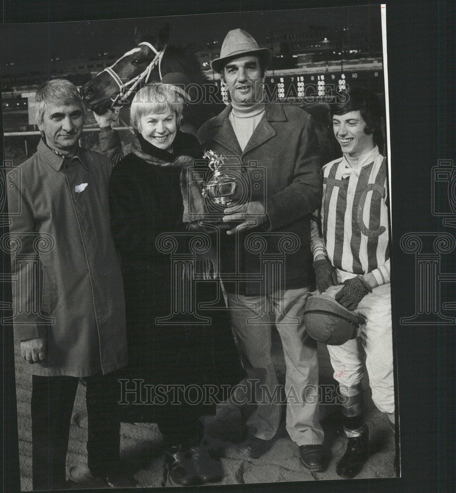
<svg viewBox="0 0 456 493">
<path fill-rule="evenodd" d="M 304 466 L 322 471 L 316 342 L 302 320 L 314 282 L 310 217 L 321 201 L 318 143 L 308 113 L 265 100 L 271 55 L 241 29 L 227 34 L 220 58 L 210 65 L 220 73 L 231 103 L 200 128 L 198 138 L 207 150 L 225 156 L 227 168 L 239 170 L 247 197 L 223 211 L 228 230 L 221 230 L 220 240 L 220 277 L 257 404 L 241 451 L 260 457 L 279 427 L 280 392 L 271 359 L 276 325 L 286 363 L 286 429 Z M 268 282 L 259 279 L 265 257 L 277 259 L 273 270 L 280 274 Z"/>
</svg>

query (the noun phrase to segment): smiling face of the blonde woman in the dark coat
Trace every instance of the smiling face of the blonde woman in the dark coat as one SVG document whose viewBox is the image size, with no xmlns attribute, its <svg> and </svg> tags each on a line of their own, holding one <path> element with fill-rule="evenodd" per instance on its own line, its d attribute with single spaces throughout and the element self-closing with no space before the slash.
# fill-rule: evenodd
<svg viewBox="0 0 456 493">
<path fill-rule="evenodd" d="M 171 109 L 165 113 L 149 113 L 141 116 L 141 136 L 159 149 L 168 149 L 177 132 L 176 114 Z"/>
</svg>

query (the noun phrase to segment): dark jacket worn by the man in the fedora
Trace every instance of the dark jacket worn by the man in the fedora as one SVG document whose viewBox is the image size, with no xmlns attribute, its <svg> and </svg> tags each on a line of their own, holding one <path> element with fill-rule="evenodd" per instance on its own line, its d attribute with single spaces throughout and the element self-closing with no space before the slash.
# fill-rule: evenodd
<svg viewBox="0 0 456 493">
<path fill-rule="evenodd" d="M 322 193 L 312 116 L 295 106 L 266 104 L 242 151 L 228 118 L 230 111 L 231 105 L 207 121 L 198 139 L 206 150 L 225 156 L 226 169 L 238 170 L 243 200 L 261 202 L 268 221 L 239 235 L 221 232 L 225 288 L 256 295 L 264 292 L 265 283 L 271 289 L 308 286 L 314 282 L 310 218 Z M 271 269 L 277 275 L 266 280 L 263 274 Z"/>
</svg>

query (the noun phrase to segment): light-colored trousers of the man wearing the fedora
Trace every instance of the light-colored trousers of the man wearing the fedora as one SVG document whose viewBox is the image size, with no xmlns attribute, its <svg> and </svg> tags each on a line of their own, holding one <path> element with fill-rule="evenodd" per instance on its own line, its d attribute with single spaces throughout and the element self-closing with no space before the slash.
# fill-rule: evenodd
<svg viewBox="0 0 456 493">
<path fill-rule="evenodd" d="M 228 294 L 233 329 L 258 404 L 246 424 L 251 434 L 263 440 L 274 437 L 281 417 L 279 399 L 271 402 L 267 398 L 275 393 L 280 397 L 271 359 L 271 327 L 276 325 L 286 364 L 286 429 L 297 445 L 323 443 L 318 421 L 316 342 L 303 322 L 308 293 L 308 288 L 299 288 L 279 290 L 268 297 Z"/>
</svg>

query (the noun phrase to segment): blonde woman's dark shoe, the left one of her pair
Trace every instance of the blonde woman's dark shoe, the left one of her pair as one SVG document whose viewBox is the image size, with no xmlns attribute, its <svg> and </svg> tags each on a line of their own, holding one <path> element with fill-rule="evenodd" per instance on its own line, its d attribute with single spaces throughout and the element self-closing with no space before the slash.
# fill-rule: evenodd
<svg viewBox="0 0 456 493">
<path fill-rule="evenodd" d="M 165 451 L 163 486 L 193 486 L 199 482 L 193 452 L 188 447 L 176 445 Z"/>
</svg>

